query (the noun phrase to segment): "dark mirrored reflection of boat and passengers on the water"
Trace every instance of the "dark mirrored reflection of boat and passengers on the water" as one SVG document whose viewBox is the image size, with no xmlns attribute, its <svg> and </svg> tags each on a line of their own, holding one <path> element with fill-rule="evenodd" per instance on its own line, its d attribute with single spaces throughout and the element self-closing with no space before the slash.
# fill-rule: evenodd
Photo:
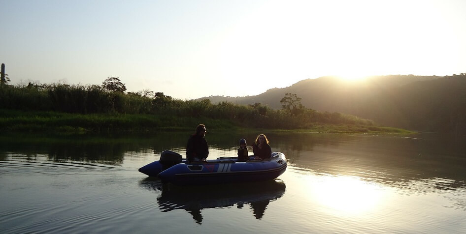
<svg viewBox="0 0 466 234">
<path fill-rule="evenodd" d="M 157 198 L 163 212 L 184 209 L 193 216 L 197 224 L 202 224 L 200 210 L 206 208 L 242 208 L 250 205 L 256 219 L 262 219 L 267 205 L 285 193 L 285 183 L 280 179 L 253 183 L 205 185 L 180 187 L 172 184 L 141 183 L 150 189 L 162 190 Z"/>
</svg>

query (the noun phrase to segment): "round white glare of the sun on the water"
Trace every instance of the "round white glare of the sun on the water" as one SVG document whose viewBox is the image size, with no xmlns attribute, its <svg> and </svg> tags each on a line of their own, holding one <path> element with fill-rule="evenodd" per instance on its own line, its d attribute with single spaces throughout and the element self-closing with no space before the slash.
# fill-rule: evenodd
<svg viewBox="0 0 466 234">
<path fill-rule="evenodd" d="M 316 202 L 339 215 L 363 215 L 383 204 L 387 191 L 381 186 L 351 176 L 319 176 L 310 193 Z"/>
</svg>

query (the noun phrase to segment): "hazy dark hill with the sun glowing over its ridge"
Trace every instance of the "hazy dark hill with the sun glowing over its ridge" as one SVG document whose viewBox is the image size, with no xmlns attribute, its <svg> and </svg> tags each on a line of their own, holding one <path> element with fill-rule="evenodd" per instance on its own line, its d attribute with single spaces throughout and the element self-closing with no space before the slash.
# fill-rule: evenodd
<svg viewBox="0 0 466 234">
<path fill-rule="evenodd" d="M 285 93 L 296 93 L 306 108 L 369 118 L 382 125 L 421 131 L 466 131 L 465 73 L 445 77 L 373 76 L 361 81 L 320 77 L 256 96 L 205 98 L 212 103 L 263 103 L 280 109 Z"/>
</svg>

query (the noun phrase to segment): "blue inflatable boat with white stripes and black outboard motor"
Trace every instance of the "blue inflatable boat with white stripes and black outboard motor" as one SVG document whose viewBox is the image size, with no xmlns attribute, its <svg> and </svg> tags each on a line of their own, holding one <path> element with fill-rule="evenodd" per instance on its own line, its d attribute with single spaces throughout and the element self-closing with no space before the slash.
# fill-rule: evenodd
<svg viewBox="0 0 466 234">
<path fill-rule="evenodd" d="M 273 152 L 269 159 L 253 158 L 248 162 L 237 162 L 237 157 L 186 162 L 180 154 L 165 150 L 159 161 L 139 168 L 139 172 L 157 176 L 162 182 L 194 185 L 270 180 L 282 175 L 287 167 L 285 155 L 280 152 Z"/>
</svg>

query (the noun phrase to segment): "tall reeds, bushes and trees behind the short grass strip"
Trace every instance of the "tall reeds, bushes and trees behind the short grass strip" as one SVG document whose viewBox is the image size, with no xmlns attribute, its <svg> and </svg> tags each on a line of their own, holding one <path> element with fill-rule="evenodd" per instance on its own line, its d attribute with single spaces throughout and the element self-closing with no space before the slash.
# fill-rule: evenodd
<svg viewBox="0 0 466 234">
<path fill-rule="evenodd" d="M 303 107 L 296 94 L 286 93 L 281 110 L 262 103 L 212 104 L 208 99 L 178 100 L 163 92 L 126 92 L 118 77 L 102 85 L 33 84 L 1 85 L 0 109 L 51 111 L 71 114 L 147 114 L 158 117 L 225 119 L 235 125 L 255 128 L 306 129 L 315 124 L 349 124 L 377 128 L 371 120 Z"/>
</svg>

